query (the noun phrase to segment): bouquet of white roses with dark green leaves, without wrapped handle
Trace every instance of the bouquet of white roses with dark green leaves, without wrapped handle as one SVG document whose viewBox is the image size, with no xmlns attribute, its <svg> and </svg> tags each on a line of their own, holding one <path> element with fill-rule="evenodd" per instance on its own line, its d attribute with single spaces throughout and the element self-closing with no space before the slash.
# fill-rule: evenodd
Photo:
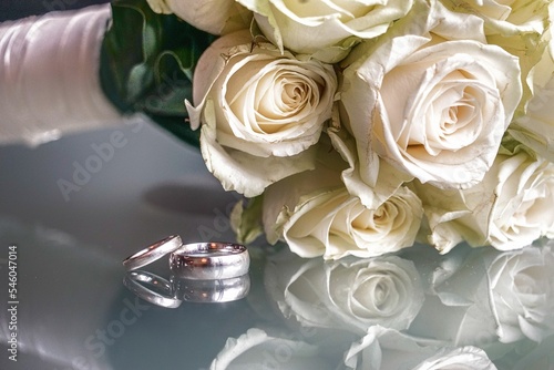
<svg viewBox="0 0 554 370">
<path fill-rule="evenodd" d="M 102 86 L 198 140 L 249 198 L 243 241 L 338 259 L 554 236 L 552 1 L 148 6 L 114 2 Z"/>
</svg>

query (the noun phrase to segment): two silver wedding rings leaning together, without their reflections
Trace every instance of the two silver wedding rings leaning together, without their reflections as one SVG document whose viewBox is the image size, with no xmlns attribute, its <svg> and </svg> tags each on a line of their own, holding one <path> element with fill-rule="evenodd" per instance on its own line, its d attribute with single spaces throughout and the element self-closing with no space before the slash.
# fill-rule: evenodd
<svg viewBox="0 0 554 370">
<path fill-rule="evenodd" d="M 250 265 L 248 250 L 234 243 L 183 244 L 178 235 L 156 241 L 123 260 L 127 271 L 150 265 L 170 255 L 172 273 L 184 279 L 229 279 L 246 275 Z"/>
</svg>

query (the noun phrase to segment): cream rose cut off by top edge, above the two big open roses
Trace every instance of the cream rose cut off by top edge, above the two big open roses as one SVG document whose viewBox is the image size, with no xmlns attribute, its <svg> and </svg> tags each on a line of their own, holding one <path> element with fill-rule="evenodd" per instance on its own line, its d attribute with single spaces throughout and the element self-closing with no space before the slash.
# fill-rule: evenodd
<svg viewBox="0 0 554 370">
<path fill-rule="evenodd" d="M 404 17 L 412 0 L 284 1 L 237 0 L 254 11 L 264 32 L 280 49 L 315 54 L 327 62 L 346 56 L 357 39 L 372 39 Z"/>
</svg>

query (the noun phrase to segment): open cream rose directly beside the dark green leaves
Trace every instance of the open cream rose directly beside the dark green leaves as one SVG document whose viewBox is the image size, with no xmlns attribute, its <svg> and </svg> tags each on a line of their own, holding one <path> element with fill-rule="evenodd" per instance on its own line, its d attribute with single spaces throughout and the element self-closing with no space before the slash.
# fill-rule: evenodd
<svg viewBox="0 0 554 370">
<path fill-rule="evenodd" d="M 193 86 L 191 125 L 202 123 L 202 155 L 226 189 L 256 196 L 314 167 L 312 146 L 337 88 L 331 65 L 281 54 L 236 32 L 202 55 Z"/>
</svg>

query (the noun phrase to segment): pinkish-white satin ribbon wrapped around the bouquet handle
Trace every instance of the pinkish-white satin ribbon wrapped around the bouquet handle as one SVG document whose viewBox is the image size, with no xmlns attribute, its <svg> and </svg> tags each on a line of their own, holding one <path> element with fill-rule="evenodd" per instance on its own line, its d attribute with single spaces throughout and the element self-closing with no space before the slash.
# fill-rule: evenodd
<svg viewBox="0 0 554 370">
<path fill-rule="evenodd" d="M 0 144 L 122 123 L 99 79 L 110 19 L 102 4 L 0 23 Z"/>
</svg>

